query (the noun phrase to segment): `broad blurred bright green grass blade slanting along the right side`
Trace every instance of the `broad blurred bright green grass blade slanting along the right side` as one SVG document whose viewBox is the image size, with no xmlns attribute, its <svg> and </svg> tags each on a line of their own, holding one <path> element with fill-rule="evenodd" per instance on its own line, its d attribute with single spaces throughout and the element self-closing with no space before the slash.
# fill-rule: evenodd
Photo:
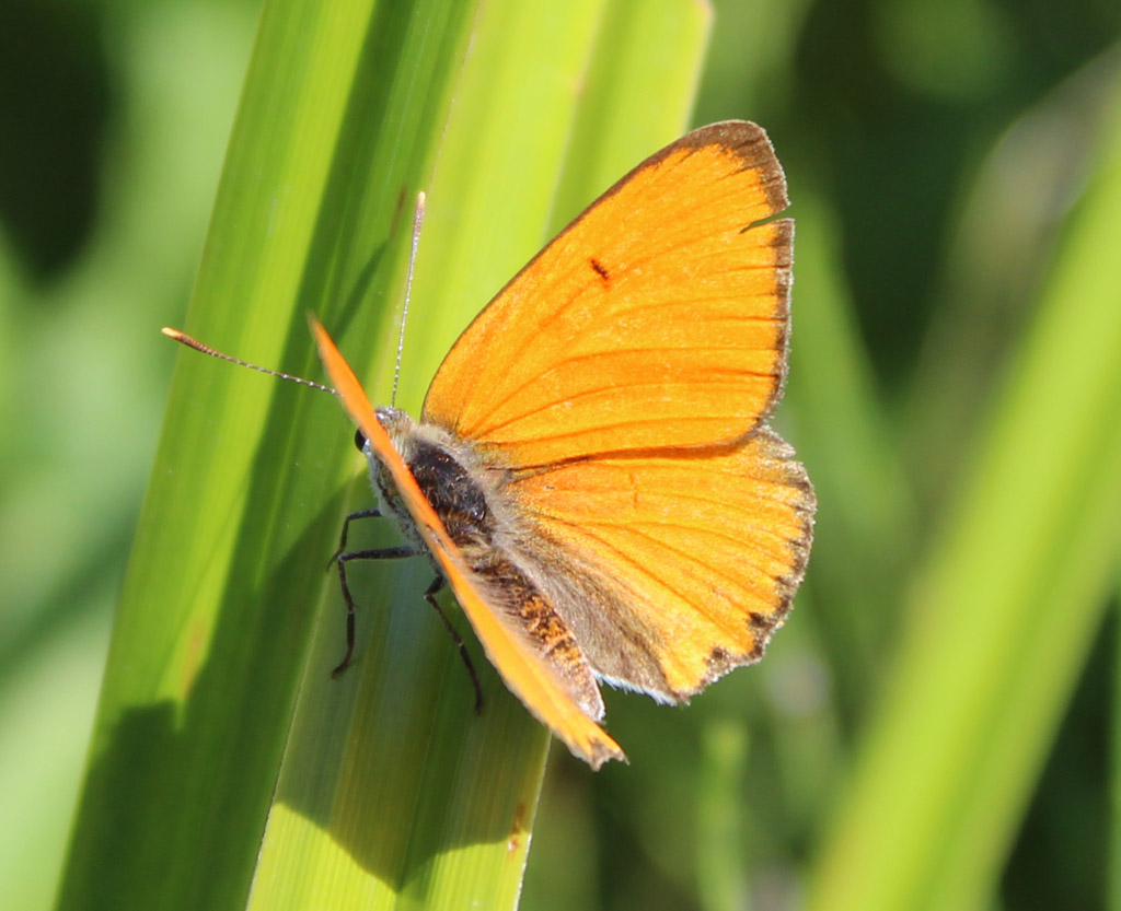
<svg viewBox="0 0 1121 911">
<path fill-rule="evenodd" d="M 978 908 L 997 889 L 1117 578 L 1119 213 L 1115 121 L 920 579 L 810 908 Z"/>
</svg>

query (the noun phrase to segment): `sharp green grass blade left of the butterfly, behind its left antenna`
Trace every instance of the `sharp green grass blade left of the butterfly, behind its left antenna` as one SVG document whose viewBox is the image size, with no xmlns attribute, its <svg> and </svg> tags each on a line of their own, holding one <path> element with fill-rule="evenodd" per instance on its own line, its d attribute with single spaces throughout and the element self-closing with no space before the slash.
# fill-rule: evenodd
<svg viewBox="0 0 1121 911">
<path fill-rule="evenodd" d="M 304 312 L 339 312 L 367 291 L 363 279 L 390 282 L 385 201 L 417 183 L 470 22 L 456 9 L 265 10 L 193 332 L 307 373 Z M 380 221 L 363 212 L 369 201 Z M 216 366 L 184 357 L 176 377 L 63 908 L 238 907 L 249 887 L 337 529 L 348 435 L 327 397 Z"/>
</svg>

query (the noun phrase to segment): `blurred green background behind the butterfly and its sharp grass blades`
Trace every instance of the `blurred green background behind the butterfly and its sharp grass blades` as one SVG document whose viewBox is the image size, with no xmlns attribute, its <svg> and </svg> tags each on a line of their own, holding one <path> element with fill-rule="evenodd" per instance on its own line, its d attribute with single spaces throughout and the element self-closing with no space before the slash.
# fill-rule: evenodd
<svg viewBox="0 0 1121 911">
<path fill-rule="evenodd" d="M 694 123 L 763 124 L 798 219 L 777 424 L 817 542 L 759 668 L 687 710 L 609 695 L 630 768 L 554 755 L 522 907 L 842 907 L 877 794 L 943 796 L 904 749 L 939 719 L 905 696 L 956 679 L 1038 723 L 1004 737 L 979 713 L 962 763 L 990 778 L 945 785 L 970 837 L 905 817 L 895 842 L 997 871 L 986 907 L 1121 909 L 1121 7 L 713 7 Z M 55 893 L 175 356 L 155 329 L 191 295 L 256 15 L 0 9 L 2 908 Z M 1006 534 L 1040 515 L 1049 534 Z"/>
</svg>

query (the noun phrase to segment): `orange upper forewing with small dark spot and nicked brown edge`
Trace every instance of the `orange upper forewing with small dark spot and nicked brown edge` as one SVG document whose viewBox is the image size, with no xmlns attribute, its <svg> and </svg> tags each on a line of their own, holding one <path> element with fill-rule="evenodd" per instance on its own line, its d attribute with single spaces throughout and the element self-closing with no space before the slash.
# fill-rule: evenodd
<svg viewBox="0 0 1121 911">
<path fill-rule="evenodd" d="M 648 158 L 467 327 L 421 419 L 544 465 L 742 437 L 786 371 L 794 226 L 753 123 L 704 127 Z"/>
</svg>

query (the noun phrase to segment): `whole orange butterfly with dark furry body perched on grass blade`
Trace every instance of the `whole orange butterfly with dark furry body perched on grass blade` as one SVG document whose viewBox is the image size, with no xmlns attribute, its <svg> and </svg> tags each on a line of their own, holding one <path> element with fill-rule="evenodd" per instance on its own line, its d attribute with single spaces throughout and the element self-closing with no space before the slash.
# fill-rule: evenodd
<svg viewBox="0 0 1121 911">
<path fill-rule="evenodd" d="M 624 759 L 599 680 L 684 701 L 762 657 L 802 582 L 816 501 L 766 424 L 794 235 L 769 219 L 787 205 L 753 123 L 667 146 L 479 314 L 419 421 L 373 408 L 313 320 L 382 514 L 430 555 L 510 690 L 595 769 Z"/>
</svg>

